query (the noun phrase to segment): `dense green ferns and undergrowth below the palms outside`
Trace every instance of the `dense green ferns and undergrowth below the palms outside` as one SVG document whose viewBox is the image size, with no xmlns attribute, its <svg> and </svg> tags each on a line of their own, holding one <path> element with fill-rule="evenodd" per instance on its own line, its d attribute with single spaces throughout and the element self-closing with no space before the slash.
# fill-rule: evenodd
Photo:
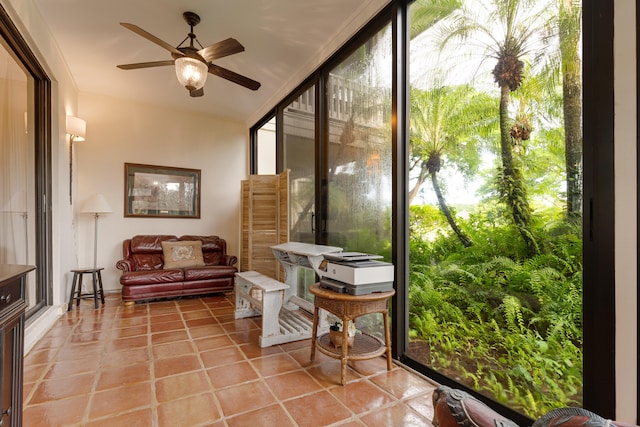
<svg viewBox="0 0 640 427">
<path fill-rule="evenodd" d="M 528 257 L 498 205 L 460 220 L 472 247 L 436 208 L 412 207 L 410 220 L 410 341 L 422 349 L 419 361 L 532 418 L 581 405 L 580 228 L 538 217 L 542 250 Z"/>
</svg>

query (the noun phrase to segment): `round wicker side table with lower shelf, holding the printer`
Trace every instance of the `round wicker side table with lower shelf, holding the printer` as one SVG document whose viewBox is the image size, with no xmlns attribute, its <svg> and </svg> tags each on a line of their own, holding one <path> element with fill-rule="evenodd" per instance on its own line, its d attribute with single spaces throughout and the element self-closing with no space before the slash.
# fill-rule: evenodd
<svg viewBox="0 0 640 427">
<path fill-rule="evenodd" d="M 311 361 L 315 359 L 316 348 L 334 359 L 340 359 L 340 383 L 347 380 L 347 362 L 349 360 L 364 360 L 387 355 L 387 370 L 392 369 L 391 363 L 391 334 L 389 332 L 389 298 L 395 290 L 389 292 L 375 292 L 365 295 L 349 295 L 323 289 L 318 283 L 311 285 L 309 291 L 314 295 L 313 329 L 311 334 Z M 329 339 L 329 334 L 318 334 L 318 315 L 324 309 L 348 325 L 350 320 L 370 313 L 382 313 L 384 319 L 384 342 L 369 334 L 356 334 L 353 345 L 342 345 L 336 348 Z M 348 330 L 342 328 L 342 342 L 348 339 Z"/>
</svg>

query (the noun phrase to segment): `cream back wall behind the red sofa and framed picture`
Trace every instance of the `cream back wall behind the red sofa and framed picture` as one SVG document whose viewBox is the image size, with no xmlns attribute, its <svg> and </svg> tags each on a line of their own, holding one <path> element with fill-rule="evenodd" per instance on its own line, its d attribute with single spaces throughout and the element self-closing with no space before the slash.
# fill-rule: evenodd
<svg viewBox="0 0 640 427">
<path fill-rule="evenodd" d="M 89 93 L 81 93 L 78 103 L 87 122 L 86 141 L 75 145 L 78 260 L 80 266 L 93 264 L 94 238 L 93 216 L 78 212 L 101 193 L 113 210 L 98 224 L 105 290 L 120 290 L 115 264 L 122 241 L 136 234 L 218 235 L 228 253 L 239 255 L 240 181 L 248 173 L 249 131 L 243 123 Z M 125 163 L 200 169 L 200 219 L 125 218 Z"/>
</svg>

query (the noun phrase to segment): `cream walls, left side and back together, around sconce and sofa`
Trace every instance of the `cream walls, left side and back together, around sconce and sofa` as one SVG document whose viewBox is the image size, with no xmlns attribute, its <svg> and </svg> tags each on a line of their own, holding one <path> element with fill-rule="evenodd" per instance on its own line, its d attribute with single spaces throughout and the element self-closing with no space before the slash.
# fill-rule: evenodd
<svg viewBox="0 0 640 427">
<path fill-rule="evenodd" d="M 119 285 L 115 262 L 125 237 L 136 233 L 219 234 L 239 252 L 240 180 L 248 170 L 248 130 L 239 123 L 125 102 L 78 90 L 32 0 L 1 0 L 11 20 L 52 82 L 52 277 L 53 306 L 32 319 L 25 351 L 65 310 L 69 270 L 93 261 L 93 222 L 77 212 L 92 193 L 103 193 L 114 210 L 100 220 L 98 262 L 108 290 Z M 80 100 L 78 97 L 80 96 Z M 87 121 L 87 141 L 74 149 L 74 201 L 69 202 L 67 115 Z M 189 141 L 184 149 L 181 141 Z M 81 145 L 82 144 L 82 145 Z M 124 219 L 124 162 L 202 169 L 201 219 Z M 224 201 L 224 202 L 222 202 Z"/>
</svg>

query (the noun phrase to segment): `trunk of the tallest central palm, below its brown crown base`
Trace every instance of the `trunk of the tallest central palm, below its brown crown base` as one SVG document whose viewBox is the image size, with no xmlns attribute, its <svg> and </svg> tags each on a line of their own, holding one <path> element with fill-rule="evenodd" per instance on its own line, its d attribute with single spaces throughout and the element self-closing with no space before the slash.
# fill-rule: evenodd
<svg viewBox="0 0 640 427">
<path fill-rule="evenodd" d="M 527 200 L 527 191 L 522 171 L 516 166 L 513 157 L 511 121 L 509 120 L 509 87 L 500 86 L 500 153 L 502 156 L 502 174 L 498 183 L 500 195 L 511 210 L 511 216 L 518 228 L 530 256 L 538 253 L 538 245 L 530 228 L 531 212 Z"/>
</svg>

